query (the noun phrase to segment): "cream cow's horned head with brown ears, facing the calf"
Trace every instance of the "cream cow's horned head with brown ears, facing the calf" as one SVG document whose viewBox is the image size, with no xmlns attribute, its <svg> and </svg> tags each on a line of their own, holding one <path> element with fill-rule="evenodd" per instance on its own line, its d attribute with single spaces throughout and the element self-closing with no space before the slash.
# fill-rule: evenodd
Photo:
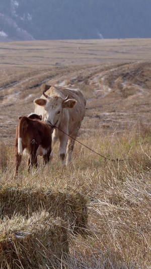
<svg viewBox="0 0 151 269">
<path fill-rule="evenodd" d="M 43 95 L 46 99 L 38 98 L 34 102 L 38 105 L 41 105 L 45 109 L 44 121 L 48 125 L 58 126 L 62 120 L 63 109 L 72 109 L 75 103 L 77 102 L 74 99 L 69 99 L 68 95 L 66 98 L 55 95 L 47 95 L 43 91 Z"/>
</svg>

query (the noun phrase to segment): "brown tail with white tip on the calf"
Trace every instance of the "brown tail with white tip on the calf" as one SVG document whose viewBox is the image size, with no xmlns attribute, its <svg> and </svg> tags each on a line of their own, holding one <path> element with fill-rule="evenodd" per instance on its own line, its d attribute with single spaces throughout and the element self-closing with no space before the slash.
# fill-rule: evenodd
<svg viewBox="0 0 151 269">
<path fill-rule="evenodd" d="M 23 129 L 25 129 L 27 121 L 28 121 L 27 117 L 20 118 L 20 123 L 18 127 L 18 154 L 19 155 L 22 155 L 23 153 L 23 145 L 22 145 Z"/>
</svg>

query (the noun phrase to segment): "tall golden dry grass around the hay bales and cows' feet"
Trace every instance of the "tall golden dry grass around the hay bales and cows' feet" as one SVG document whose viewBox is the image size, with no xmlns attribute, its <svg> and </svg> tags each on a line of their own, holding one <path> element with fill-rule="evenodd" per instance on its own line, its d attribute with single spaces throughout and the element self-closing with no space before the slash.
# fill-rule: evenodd
<svg viewBox="0 0 151 269">
<path fill-rule="evenodd" d="M 56 145 L 52 163 L 43 167 L 40 160 L 38 171 L 29 175 L 23 158 L 20 177 L 14 181 L 14 148 L 8 147 L 7 170 L 1 170 L 0 184 L 4 188 L 77 192 L 88 199 L 86 233 L 77 235 L 69 230 L 69 253 L 60 268 L 149 268 L 150 130 L 140 126 L 131 134 L 98 134 L 90 137 L 87 133 L 78 139 L 115 162 L 76 142 L 72 165 L 62 169 Z"/>
</svg>

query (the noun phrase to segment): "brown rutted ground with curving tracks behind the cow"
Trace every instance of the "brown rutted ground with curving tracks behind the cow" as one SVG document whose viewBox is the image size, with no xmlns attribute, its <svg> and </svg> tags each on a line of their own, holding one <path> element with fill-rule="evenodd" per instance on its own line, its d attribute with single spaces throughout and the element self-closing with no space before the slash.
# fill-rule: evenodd
<svg viewBox="0 0 151 269">
<path fill-rule="evenodd" d="M 87 97 L 86 117 L 79 135 L 101 135 L 132 131 L 134 126 L 150 126 L 151 63 L 120 62 L 56 67 L 18 74 L 9 83 L 3 81 L 1 95 L 1 141 L 14 143 L 19 116 L 33 112 L 33 100 L 41 95 L 42 83 L 82 89 Z"/>
</svg>

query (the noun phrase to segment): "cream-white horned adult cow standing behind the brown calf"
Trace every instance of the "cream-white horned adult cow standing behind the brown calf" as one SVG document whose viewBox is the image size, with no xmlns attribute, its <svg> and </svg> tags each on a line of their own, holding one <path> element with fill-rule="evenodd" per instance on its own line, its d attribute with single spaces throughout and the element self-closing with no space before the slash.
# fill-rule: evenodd
<svg viewBox="0 0 151 269">
<path fill-rule="evenodd" d="M 48 125 L 58 127 L 74 139 L 77 137 L 86 110 L 86 98 L 81 90 L 71 85 L 63 87 L 43 85 L 43 95 L 35 99 L 34 103 L 35 113 L 42 115 L 42 120 Z M 71 161 L 74 139 L 60 130 L 57 128 L 53 130 L 52 142 L 55 143 L 59 139 L 58 154 L 61 164 L 64 164 L 66 153 L 66 165 L 68 165 Z"/>
</svg>

